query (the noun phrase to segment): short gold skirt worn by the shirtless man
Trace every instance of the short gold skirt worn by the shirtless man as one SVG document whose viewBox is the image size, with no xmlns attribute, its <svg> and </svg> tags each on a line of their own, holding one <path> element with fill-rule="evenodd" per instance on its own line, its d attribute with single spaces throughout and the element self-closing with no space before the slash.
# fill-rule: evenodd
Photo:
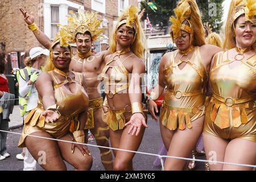
<svg viewBox="0 0 256 182">
<path fill-rule="evenodd" d="M 85 123 L 84 129 L 93 129 L 94 128 L 94 111 L 97 109 L 102 108 L 103 105 L 103 98 L 96 98 L 93 100 L 89 100 L 89 106 L 88 106 L 88 115 L 87 120 Z"/>
</svg>

